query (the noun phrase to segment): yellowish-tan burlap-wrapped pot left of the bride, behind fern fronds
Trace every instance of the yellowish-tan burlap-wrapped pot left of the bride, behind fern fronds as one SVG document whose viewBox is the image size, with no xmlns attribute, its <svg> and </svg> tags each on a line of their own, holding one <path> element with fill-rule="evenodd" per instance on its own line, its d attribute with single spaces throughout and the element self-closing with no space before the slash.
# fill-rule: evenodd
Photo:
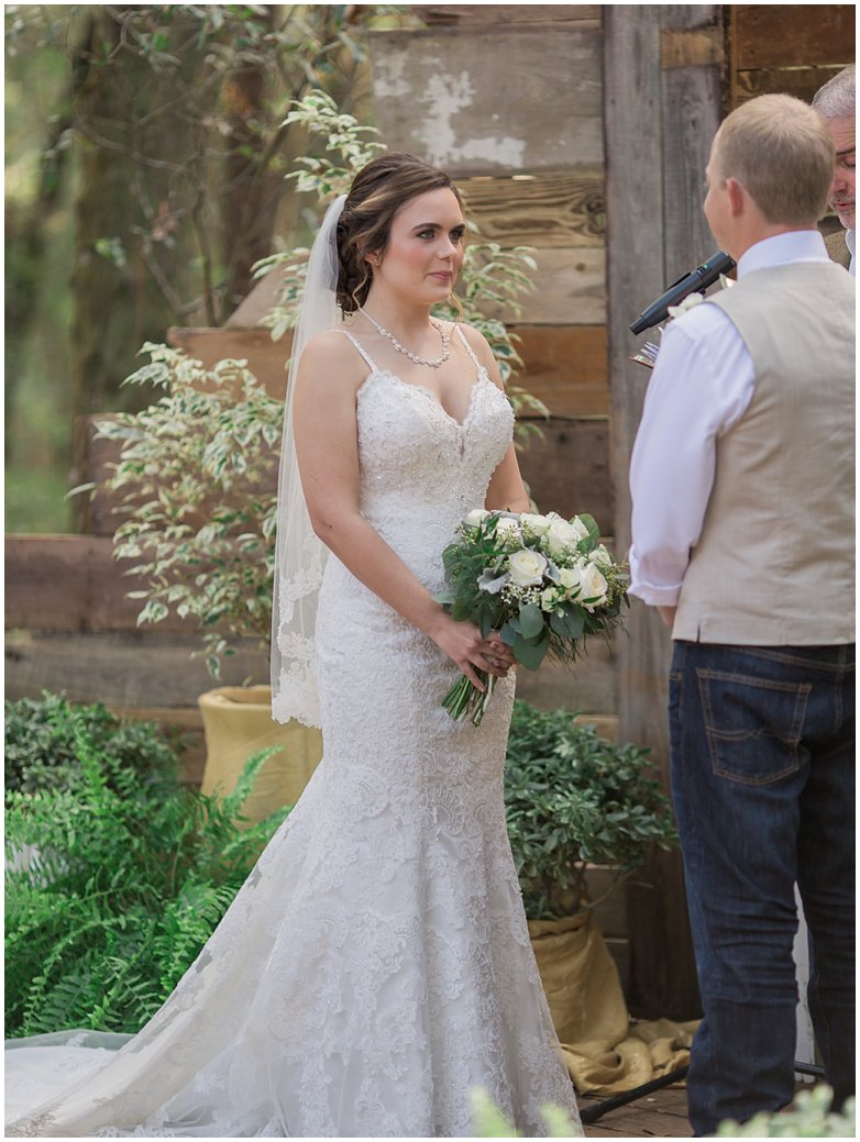
<svg viewBox="0 0 860 1142">
<path fill-rule="evenodd" d="M 272 721 L 268 686 L 222 686 L 198 699 L 206 733 L 201 791 L 232 793 L 248 758 L 270 746 L 283 747 L 257 777 L 242 813 L 262 821 L 295 805 L 322 757 L 322 734 L 299 722 Z"/>
</svg>

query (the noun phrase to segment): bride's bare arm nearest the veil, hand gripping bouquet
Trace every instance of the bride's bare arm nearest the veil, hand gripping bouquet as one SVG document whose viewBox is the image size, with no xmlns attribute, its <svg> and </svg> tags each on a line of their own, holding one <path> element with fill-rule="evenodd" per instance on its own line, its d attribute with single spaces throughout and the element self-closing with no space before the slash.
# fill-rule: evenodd
<svg viewBox="0 0 860 1142">
<path fill-rule="evenodd" d="M 504 676 L 509 651 L 471 622 L 455 622 L 379 532 L 360 514 L 356 393 L 360 363 L 339 333 L 323 333 L 302 355 L 294 429 L 311 523 L 323 544 L 395 611 L 428 635 L 483 690 L 475 668 Z M 493 659 L 504 665 L 496 667 Z"/>
</svg>

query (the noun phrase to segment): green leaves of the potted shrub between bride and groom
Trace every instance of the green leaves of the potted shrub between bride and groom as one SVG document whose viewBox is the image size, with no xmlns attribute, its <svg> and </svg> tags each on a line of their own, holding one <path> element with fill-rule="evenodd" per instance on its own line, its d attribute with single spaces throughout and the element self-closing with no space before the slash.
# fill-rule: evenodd
<svg viewBox="0 0 860 1142">
<path fill-rule="evenodd" d="M 677 842 L 672 806 L 650 775 L 648 750 L 600 738 L 566 710 L 514 703 L 505 806 L 530 919 L 588 903 L 587 864 L 640 867 L 652 844 Z"/>
</svg>

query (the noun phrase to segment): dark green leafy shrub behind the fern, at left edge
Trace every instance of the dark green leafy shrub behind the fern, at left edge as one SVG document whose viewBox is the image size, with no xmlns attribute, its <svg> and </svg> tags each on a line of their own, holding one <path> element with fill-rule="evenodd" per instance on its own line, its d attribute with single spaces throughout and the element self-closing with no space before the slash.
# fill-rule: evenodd
<svg viewBox="0 0 860 1142">
<path fill-rule="evenodd" d="M 175 785 L 182 746 L 154 722 L 121 722 L 101 703 L 73 706 L 63 694 L 6 702 L 6 790 L 70 789 L 82 779 L 75 734 L 82 732 L 121 769 L 147 783 Z"/>
</svg>

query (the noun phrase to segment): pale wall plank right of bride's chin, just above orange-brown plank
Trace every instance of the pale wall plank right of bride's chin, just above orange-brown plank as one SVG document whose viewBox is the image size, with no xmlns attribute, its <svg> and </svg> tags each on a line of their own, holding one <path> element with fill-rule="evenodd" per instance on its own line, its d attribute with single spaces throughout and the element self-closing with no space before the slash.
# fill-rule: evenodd
<svg viewBox="0 0 860 1142">
<path fill-rule="evenodd" d="M 506 324 L 603 324 L 606 320 L 604 249 L 546 248 L 535 250 L 532 257 L 537 263 L 533 291 L 520 297 L 519 307 L 488 305 L 488 316 Z"/>
</svg>

